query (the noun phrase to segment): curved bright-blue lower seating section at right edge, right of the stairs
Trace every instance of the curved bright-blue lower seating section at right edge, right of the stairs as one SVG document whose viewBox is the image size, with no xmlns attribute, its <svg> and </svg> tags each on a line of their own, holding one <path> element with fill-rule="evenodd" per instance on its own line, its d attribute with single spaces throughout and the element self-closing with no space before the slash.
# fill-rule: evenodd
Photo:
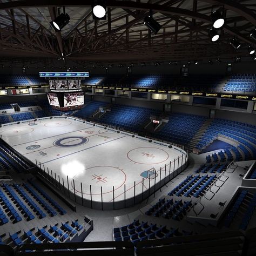
<svg viewBox="0 0 256 256">
<path fill-rule="evenodd" d="M 238 152 L 236 150 L 234 152 L 238 158 L 240 158 L 239 151 L 242 152 L 244 160 L 256 158 L 256 126 L 230 120 L 214 119 L 199 140 L 196 148 L 204 149 L 217 139 L 217 136 L 224 136 L 239 143 Z M 232 147 L 232 150 L 234 150 L 234 147 Z"/>
</svg>

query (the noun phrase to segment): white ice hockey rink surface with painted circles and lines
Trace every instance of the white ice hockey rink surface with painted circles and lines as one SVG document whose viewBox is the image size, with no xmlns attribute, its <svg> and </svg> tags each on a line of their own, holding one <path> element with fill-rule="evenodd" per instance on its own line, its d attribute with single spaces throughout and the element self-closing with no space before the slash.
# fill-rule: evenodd
<svg viewBox="0 0 256 256">
<path fill-rule="evenodd" d="M 178 147 L 71 117 L 3 125 L 0 135 L 25 158 L 56 174 L 71 193 L 75 181 L 76 196 L 83 191 L 84 199 L 98 202 L 134 197 L 134 191 L 146 191 L 186 161 Z"/>
</svg>

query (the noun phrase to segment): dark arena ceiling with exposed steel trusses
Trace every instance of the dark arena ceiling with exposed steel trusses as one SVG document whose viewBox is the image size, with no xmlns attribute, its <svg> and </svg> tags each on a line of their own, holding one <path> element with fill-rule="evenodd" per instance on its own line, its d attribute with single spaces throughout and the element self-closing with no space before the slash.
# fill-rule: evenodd
<svg viewBox="0 0 256 256">
<path fill-rule="evenodd" d="M 0 56 L 6 59 L 62 59 L 97 63 L 193 60 L 248 56 L 256 46 L 255 0 L 107 1 L 106 20 L 93 20 L 88 0 L 0 0 Z M 70 22 L 55 32 L 50 21 L 65 6 Z M 226 22 L 212 43 L 212 8 L 224 8 Z M 149 10 L 161 24 L 155 35 L 143 23 Z M 229 41 L 237 37 L 241 48 Z"/>
</svg>

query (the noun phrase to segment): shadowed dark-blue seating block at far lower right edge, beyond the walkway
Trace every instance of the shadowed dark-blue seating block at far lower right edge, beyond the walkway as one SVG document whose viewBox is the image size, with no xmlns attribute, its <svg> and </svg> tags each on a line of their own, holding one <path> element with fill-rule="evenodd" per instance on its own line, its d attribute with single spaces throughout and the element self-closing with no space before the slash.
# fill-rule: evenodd
<svg viewBox="0 0 256 256">
<path fill-rule="evenodd" d="M 256 206 L 256 193 L 246 190 L 238 192 L 224 218 L 224 226 L 230 227 L 232 222 L 240 223 L 239 228 L 246 230 Z"/>
</svg>

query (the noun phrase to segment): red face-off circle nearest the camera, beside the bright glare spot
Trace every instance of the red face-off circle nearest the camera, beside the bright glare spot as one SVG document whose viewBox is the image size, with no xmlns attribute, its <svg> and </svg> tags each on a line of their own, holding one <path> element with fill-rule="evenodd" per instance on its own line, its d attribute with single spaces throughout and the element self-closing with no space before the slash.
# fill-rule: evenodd
<svg viewBox="0 0 256 256">
<path fill-rule="evenodd" d="M 83 180 L 83 194 L 90 194 L 91 185 L 92 196 L 99 196 L 100 186 L 103 188 L 102 194 L 113 193 L 112 184 L 116 184 L 114 191 L 122 187 L 126 182 L 126 174 L 118 167 L 102 165 L 87 168 L 80 174 L 74 176 L 73 180 L 75 180 L 75 183 L 79 183 L 79 185 L 80 181 Z M 73 181 L 71 185 L 73 187 Z M 95 185 L 95 187 L 93 185 Z M 77 189 L 76 192 L 81 193 L 81 191 Z"/>
</svg>

